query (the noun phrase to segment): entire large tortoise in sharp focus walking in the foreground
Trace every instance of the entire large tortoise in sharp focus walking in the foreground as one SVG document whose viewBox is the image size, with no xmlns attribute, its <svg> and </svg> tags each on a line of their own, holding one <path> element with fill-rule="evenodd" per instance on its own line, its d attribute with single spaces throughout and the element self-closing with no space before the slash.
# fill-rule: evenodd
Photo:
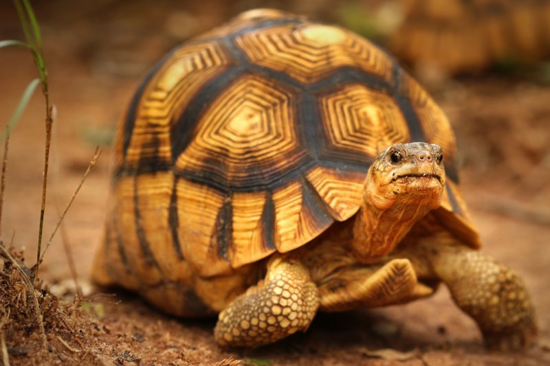
<svg viewBox="0 0 550 366">
<path fill-rule="evenodd" d="M 373 43 L 250 10 L 173 49 L 137 89 L 93 278 L 177 316 L 219 313 L 216 341 L 244 347 L 444 282 L 488 345 L 520 349 L 533 305 L 477 251 L 455 145 Z"/>
</svg>

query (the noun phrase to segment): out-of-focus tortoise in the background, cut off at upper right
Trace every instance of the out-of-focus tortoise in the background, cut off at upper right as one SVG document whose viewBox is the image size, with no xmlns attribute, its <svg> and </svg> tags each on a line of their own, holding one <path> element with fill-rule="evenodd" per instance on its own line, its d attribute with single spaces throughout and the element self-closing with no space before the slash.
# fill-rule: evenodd
<svg viewBox="0 0 550 366">
<path fill-rule="evenodd" d="M 420 70 L 478 73 L 498 62 L 550 56 L 549 0 L 398 3 L 403 19 L 388 46 Z"/>
</svg>

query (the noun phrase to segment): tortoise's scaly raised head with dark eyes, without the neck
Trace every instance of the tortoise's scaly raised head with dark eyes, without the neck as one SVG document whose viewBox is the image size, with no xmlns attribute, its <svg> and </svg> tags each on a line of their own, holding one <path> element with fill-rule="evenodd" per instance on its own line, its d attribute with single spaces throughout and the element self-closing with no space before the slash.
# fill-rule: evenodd
<svg viewBox="0 0 550 366">
<path fill-rule="evenodd" d="M 439 207 L 445 185 L 439 145 L 396 144 L 380 153 L 366 179 L 366 200 L 378 209 L 394 205 Z"/>
</svg>

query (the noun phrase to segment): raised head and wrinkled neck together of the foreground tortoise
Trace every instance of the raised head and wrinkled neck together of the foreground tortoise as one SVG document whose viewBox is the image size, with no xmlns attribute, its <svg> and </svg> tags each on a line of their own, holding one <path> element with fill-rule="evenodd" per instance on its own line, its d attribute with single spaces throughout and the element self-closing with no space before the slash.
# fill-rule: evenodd
<svg viewBox="0 0 550 366">
<path fill-rule="evenodd" d="M 364 205 L 355 220 L 358 258 L 371 261 L 391 252 L 417 220 L 441 205 L 444 186 L 440 146 L 413 142 L 381 152 L 366 176 Z"/>
</svg>

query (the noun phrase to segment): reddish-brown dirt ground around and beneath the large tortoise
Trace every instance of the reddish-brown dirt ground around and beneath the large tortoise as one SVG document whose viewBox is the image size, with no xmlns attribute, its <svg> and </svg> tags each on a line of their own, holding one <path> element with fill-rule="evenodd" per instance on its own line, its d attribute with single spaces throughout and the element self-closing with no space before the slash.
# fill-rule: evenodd
<svg viewBox="0 0 550 366">
<path fill-rule="evenodd" d="M 144 71 L 167 49 L 258 2 L 238 3 L 220 8 L 206 0 L 199 5 L 181 3 L 175 10 L 168 1 L 155 1 L 154 7 L 145 1 L 129 5 L 107 0 L 87 8 L 72 8 L 68 1 L 37 5 L 52 101 L 58 110 L 46 239 L 58 218 L 56 205 L 65 206 L 94 146 L 104 149 L 63 225 L 81 284 L 87 284 L 102 233 L 109 192 L 108 141 L 126 101 Z M 177 30 L 178 22 L 189 29 Z M 10 38 L 21 38 L 21 32 L 12 5 L 4 2 L 0 40 Z M 1 49 L 2 119 L 8 119 L 35 75 L 24 49 Z M 463 163 L 461 186 L 481 233 L 483 251 L 518 271 L 536 304 L 540 336 L 530 350 L 487 352 L 473 321 L 452 304 L 445 288 L 405 306 L 319 314 L 307 333 L 257 350 L 221 349 L 212 338 L 214 319 L 168 317 L 136 295 L 113 289 L 104 295 L 94 293 L 84 310 L 74 312 L 87 323 L 72 319 L 76 327 L 72 331 L 86 341 L 67 345 L 52 341 L 54 349 L 64 350 L 52 352 L 54 361 L 210 365 L 234 358 L 250 365 L 550 364 L 550 84 L 515 75 L 489 75 L 439 82 L 430 89 L 456 128 Z M 1 222 L 3 242 L 13 237 L 14 246 L 25 249 L 30 265 L 35 262 L 39 227 L 43 108 L 42 96 L 36 93 L 12 135 Z M 69 287 L 71 275 L 60 235 L 45 255 L 40 277 L 48 286 L 57 285 L 52 288 L 56 293 Z M 40 363 L 32 358 L 35 351 L 23 340 L 10 345 L 11 365 Z"/>
</svg>

